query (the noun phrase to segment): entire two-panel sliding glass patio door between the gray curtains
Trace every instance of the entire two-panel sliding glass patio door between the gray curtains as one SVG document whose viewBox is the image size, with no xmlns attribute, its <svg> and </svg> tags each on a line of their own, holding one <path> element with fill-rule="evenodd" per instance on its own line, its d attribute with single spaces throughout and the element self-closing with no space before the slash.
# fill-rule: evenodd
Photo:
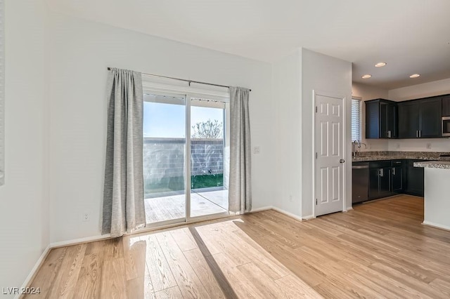
<svg viewBox="0 0 450 299">
<path fill-rule="evenodd" d="M 227 214 L 229 103 L 158 92 L 143 107 L 148 225 Z"/>
</svg>

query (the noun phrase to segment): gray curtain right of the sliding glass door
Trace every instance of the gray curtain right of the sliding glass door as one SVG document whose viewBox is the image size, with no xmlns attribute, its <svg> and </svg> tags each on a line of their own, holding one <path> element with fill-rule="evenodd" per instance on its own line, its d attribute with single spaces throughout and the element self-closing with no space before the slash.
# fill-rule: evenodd
<svg viewBox="0 0 450 299">
<path fill-rule="evenodd" d="M 250 90 L 230 87 L 229 210 L 252 210 L 251 145 L 248 97 Z"/>
</svg>

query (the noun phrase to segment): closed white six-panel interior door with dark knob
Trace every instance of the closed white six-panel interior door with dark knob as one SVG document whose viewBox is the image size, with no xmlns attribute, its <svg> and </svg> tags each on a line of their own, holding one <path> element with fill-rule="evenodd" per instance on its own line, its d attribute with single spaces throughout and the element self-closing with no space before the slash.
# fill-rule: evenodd
<svg viewBox="0 0 450 299">
<path fill-rule="evenodd" d="M 343 210 L 344 101 L 315 95 L 316 216 Z"/>
</svg>

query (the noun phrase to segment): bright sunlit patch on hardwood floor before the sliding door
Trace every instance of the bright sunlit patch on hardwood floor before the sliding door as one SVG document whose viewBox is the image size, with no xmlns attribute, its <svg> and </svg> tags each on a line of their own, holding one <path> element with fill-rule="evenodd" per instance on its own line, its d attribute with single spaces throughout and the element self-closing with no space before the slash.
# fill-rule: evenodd
<svg viewBox="0 0 450 299">
<path fill-rule="evenodd" d="M 244 223 L 227 220 L 130 237 L 129 251 L 146 261 L 136 265 L 144 297 L 163 292 L 171 298 L 321 298 L 243 232 Z"/>
</svg>

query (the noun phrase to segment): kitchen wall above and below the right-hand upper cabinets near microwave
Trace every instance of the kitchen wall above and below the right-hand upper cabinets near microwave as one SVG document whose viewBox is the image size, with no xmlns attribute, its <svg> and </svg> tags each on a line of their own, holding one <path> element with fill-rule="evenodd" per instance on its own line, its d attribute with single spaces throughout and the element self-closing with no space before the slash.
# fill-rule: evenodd
<svg viewBox="0 0 450 299">
<path fill-rule="evenodd" d="M 424 84 L 392 89 L 388 98 L 394 101 L 426 98 L 450 93 L 450 78 Z M 431 145 L 427 149 L 427 144 Z M 450 152 L 449 138 L 388 140 L 388 150 L 405 152 Z"/>
</svg>

